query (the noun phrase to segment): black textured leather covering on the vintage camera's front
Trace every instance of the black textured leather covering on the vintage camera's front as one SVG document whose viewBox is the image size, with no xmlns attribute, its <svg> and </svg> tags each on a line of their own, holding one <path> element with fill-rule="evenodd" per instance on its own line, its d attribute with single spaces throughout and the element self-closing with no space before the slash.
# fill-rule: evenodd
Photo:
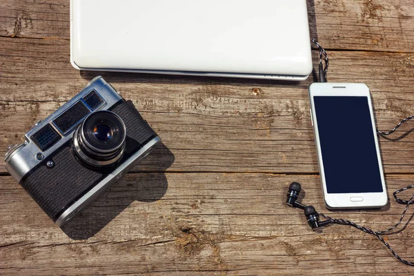
<svg viewBox="0 0 414 276">
<path fill-rule="evenodd" d="M 110 111 L 121 117 L 126 125 L 126 150 L 119 162 L 121 164 L 157 134 L 141 117 L 132 101 L 122 100 L 110 108 Z M 46 166 L 50 160 L 55 163 L 52 168 Z M 88 193 L 108 173 L 110 171 L 100 172 L 86 168 L 77 161 L 72 153 L 72 141 L 70 141 L 25 175 L 20 184 L 44 212 L 56 221 L 65 210 Z"/>
</svg>

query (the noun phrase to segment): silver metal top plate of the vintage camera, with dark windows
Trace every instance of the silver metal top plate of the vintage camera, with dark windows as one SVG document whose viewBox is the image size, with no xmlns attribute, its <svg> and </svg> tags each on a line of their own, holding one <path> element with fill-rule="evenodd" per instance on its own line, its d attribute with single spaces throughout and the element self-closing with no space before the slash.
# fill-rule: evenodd
<svg viewBox="0 0 414 276">
<path fill-rule="evenodd" d="M 72 132 L 86 116 L 97 110 L 108 110 L 121 99 L 119 93 L 101 76 L 92 79 L 78 95 L 53 112 L 52 115 L 35 124 L 26 133 L 23 144 L 8 150 L 5 157 L 6 169 L 14 179 L 20 181 L 43 159 L 72 139 Z M 70 112 L 72 115 L 72 122 L 69 120 L 70 124 L 68 124 L 68 120 L 65 120 L 64 123 L 61 122 L 63 120 L 59 120 L 66 112 Z M 37 141 L 34 137 L 39 133 L 39 130 L 45 128 L 50 128 L 50 135 L 55 135 L 57 141 L 42 150 L 43 137 L 39 139 L 41 141 Z"/>
</svg>

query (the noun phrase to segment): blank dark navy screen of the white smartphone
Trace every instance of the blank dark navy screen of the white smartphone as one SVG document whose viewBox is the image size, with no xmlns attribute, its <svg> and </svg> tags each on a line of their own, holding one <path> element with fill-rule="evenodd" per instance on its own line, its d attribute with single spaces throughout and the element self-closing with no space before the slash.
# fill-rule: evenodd
<svg viewBox="0 0 414 276">
<path fill-rule="evenodd" d="M 327 193 L 382 193 L 368 97 L 313 101 Z"/>
</svg>

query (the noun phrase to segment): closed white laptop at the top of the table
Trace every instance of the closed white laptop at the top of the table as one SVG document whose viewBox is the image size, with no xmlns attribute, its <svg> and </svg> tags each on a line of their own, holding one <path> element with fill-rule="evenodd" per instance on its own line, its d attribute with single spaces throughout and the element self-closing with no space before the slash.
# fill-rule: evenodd
<svg viewBox="0 0 414 276">
<path fill-rule="evenodd" d="M 306 0 L 71 0 L 79 70 L 304 80 Z"/>
</svg>

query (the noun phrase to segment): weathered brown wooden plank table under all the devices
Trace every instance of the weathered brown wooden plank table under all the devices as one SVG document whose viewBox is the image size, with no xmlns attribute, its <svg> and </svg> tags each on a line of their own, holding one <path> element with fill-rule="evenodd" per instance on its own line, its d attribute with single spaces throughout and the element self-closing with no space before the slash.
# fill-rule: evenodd
<svg viewBox="0 0 414 276">
<path fill-rule="evenodd" d="M 382 130 L 414 115 L 412 0 L 315 0 L 308 10 L 311 36 L 331 57 L 328 81 L 366 83 Z M 299 181 L 304 203 L 326 211 L 309 115 L 312 78 L 79 72 L 69 62 L 69 25 L 69 0 L 1 1 L 1 155 L 96 75 L 132 99 L 164 145 L 63 230 L 0 161 L 0 275 L 414 272 L 355 228 L 313 233 L 302 211 L 284 203 L 288 184 Z M 413 145 L 414 134 L 380 138 L 390 196 L 414 182 Z M 402 209 L 391 197 L 382 210 L 326 213 L 383 229 Z M 413 260 L 413 237 L 408 226 L 388 242 Z"/>
</svg>

